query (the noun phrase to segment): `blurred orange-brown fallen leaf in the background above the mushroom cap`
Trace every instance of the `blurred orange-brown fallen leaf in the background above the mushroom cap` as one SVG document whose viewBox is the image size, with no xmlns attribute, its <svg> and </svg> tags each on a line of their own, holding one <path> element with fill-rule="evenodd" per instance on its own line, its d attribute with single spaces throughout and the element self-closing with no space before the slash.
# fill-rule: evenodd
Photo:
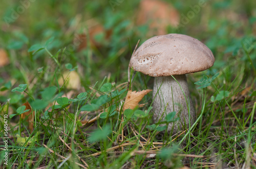
<svg viewBox="0 0 256 169">
<path fill-rule="evenodd" d="M 179 12 L 170 3 L 159 0 L 141 1 L 137 16 L 137 25 L 150 25 L 151 36 L 167 34 L 167 26 L 177 27 L 180 21 Z"/>
</svg>

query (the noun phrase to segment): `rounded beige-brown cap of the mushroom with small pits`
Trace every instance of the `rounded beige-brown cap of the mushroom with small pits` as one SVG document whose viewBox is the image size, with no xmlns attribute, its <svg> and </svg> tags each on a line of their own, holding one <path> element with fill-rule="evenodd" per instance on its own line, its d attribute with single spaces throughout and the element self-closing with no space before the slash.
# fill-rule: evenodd
<svg viewBox="0 0 256 169">
<path fill-rule="evenodd" d="M 182 34 L 155 36 L 132 55 L 130 67 L 158 77 L 199 72 L 214 65 L 211 50 L 199 40 Z"/>
</svg>

